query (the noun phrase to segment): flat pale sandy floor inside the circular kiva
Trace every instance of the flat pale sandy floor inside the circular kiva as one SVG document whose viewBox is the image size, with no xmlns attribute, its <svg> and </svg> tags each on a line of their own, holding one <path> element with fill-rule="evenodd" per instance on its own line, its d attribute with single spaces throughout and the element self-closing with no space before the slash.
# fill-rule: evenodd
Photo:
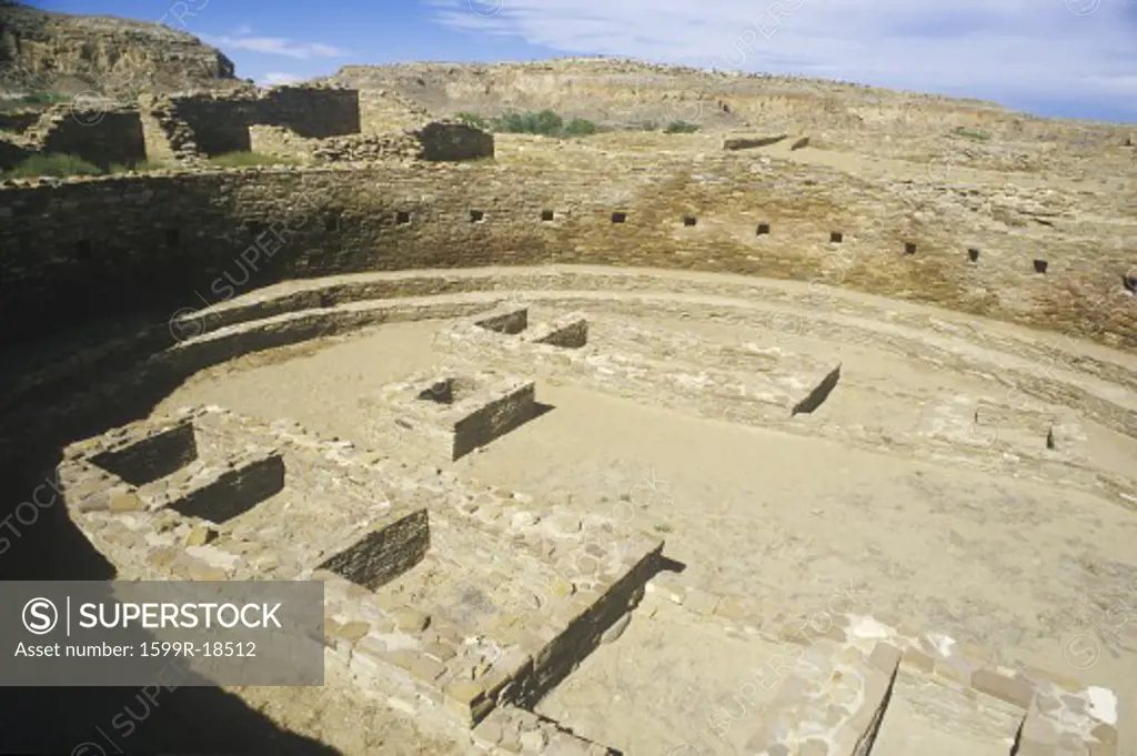
<svg viewBox="0 0 1137 756">
<path fill-rule="evenodd" d="M 247 357 L 197 376 L 164 408 L 218 404 L 374 446 L 366 408 L 384 383 L 437 364 L 431 339 L 443 325 L 391 325 L 319 348 Z M 707 330 L 700 338 L 725 342 L 729 332 Z M 976 379 L 930 372 L 919 360 L 862 348 L 846 354 L 866 366 L 861 381 L 977 390 Z M 620 513 L 665 533 L 665 553 L 688 565 L 691 580 L 760 597 L 771 613 L 805 617 L 850 595 L 861 612 L 907 618 L 1004 659 L 1109 686 L 1123 701 L 1137 693 L 1134 513 L 1088 493 L 558 383 L 538 384 L 538 399 L 551 412 L 454 470 L 468 481 Z M 835 404 L 830 416 L 822 409 L 819 417 L 863 419 L 878 409 L 899 408 Z M 1111 464 L 1123 464 L 1129 449 L 1114 448 Z M 1099 658 L 1073 668 L 1063 649 L 1080 633 L 1095 639 Z M 713 700 L 716 688 L 731 691 L 732 659 L 753 654 L 761 663 L 765 650 L 732 649 L 739 641 L 715 645 L 697 634 L 633 622 L 545 705 L 586 736 L 642 748 L 631 753 L 666 753 L 705 722 L 699 701 Z M 617 648 L 624 650 L 611 650 Z M 674 675 L 666 690 L 663 674 Z M 655 703 L 637 706 L 637 695 Z M 597 701 L 624 714 L 606 722 Z"/>
</svg>

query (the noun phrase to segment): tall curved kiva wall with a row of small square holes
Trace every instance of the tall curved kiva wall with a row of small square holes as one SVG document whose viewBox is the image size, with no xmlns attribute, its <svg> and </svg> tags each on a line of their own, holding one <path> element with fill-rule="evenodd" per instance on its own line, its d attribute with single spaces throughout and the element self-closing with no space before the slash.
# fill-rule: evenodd
<svg viewBox="0 0 1137 756">
<path fill-rule="evenodd" d="M 1074 224 L 1043 254 L 1037 235 L 912 213 L 846 174 L 669 159 L 601 175 L 488 160 L 9 184 L 3 339 L 164 319 L 290 277 L 555 261 L 847 285 L 1137 347 L 1120 246 L 1063 243 Z"/>
</svg>

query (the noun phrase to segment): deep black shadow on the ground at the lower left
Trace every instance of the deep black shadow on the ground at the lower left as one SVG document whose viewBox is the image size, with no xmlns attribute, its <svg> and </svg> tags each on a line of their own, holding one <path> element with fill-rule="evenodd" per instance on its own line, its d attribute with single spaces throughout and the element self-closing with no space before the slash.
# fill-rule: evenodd
<svg viewBox="0 0 1137 756">
<path fill-rule="evenodd" d="M 7 362 L 0 356 L 0 362 Z M 124 363 L 119 363 L 119 366 Z M 111 373 L 82 376 L 93 385 Z M 116 393 L 76 402 L 66 413 L 36 414 L 24 402 L 0 417 L 8 452 L 0 458 L 0 579 L 113 580 L 115 570 L 67 517 L 61 497 L 28 524 L 14 516 L 36 487 L 53 480 L 64 447 L 143 418 L 186 375 L 167 374 Z M 35 407 L 59 407 L 78 387 L 38 392 Z M 69 405 L 72 406 L 72 405 Z M 41 493 L 40 500 L 47 495 Z M 22 508 L 28 521 L 31 509 Z M 6 520 L 8 518 L 8 520 Z M 16 534 L 18 533 L 18 534 Z M 5 607 L 3 610 L 8 610 Z M 127 712 L 128 707 L 128 712 Z M 126 713 L 126 716 L 122 716 Z M 117 717 L 117 718 L 116 718 Z M 116 728 L 114 723 L 117 723 Z M 133 728 L 126 725 L 133 725 Z M 102 756 L 124 753 L 312 754 L 335 749 L 285 731 L 221 688 L 163 690 L 151 704 L 139 688 L 0 687 L 0 751 Z"/>
</svg>

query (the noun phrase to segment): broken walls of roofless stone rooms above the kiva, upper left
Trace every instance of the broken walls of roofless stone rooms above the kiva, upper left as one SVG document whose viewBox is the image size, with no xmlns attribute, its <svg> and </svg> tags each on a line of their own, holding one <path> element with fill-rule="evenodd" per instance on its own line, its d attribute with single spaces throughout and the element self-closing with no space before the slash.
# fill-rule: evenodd
<svg viewBox="0 0 1137 756">
<path fill-rule="evenodd" d="M 402 127 L 380 131 L 362 121 L 359 92 L 330 85 L 143 93 L 136 106 L 76 99 L 0 136 L 0 169 L 39 153 L 75 155 L 103 168 L 143 160 L 201 168 L 206 158 L 250 150 L 312 163 L 493 155 L 492 136 L 484 132 L 454 121 L 432 122 L 420 110 L 405 115 Z"/>
</svg>

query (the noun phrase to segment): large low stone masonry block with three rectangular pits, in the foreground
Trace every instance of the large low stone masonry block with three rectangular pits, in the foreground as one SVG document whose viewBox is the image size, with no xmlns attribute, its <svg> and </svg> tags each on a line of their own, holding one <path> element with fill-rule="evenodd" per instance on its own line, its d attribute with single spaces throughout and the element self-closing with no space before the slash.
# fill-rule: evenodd
<svg viewBox="0 0 1137 756">
<path fill-rule="evenodd" d="M 136 491 L 101 491 L 114 482 L 93 472 L 92 454 L 186 422 L 206 441 L 199 462 L 219 467 L 240 449 L 272 448 L 304 474 L 282 498 L 217 526 L 171 506 L 185 489 L 176 475 Z M 595 647 L 607 623 L 625 616 L 656 568 L 662 541 L 611 517 L 564 509 L 536 517 L 513 499 L 466 491 L 453 474 L 407 468 L 347 442 L 216 407 L 72 445 L 58 476 L 73 521 L 121 579 L 321 580 L 325 662 L 360 696 L 514 753 L 533 745 L 608 753 L 508 704 L 555 682 Z M 324 480 L 350 481 L 355 493 Z M 100 489 L 100 501 L 113 502 L 83 506 L 96 493 L 91 488 Z M 157 496 L 163 490 L 169 497 Z M 397 527 L 407 543 L 421 545 L 428 505 L 431 521 L 438 520 L 438 542 L 402 573 L 402 590 L 372 591 L 322 566 L 329 543 L 374 531 L 376 514 L 380 526 Z M 417 554 L 417 546 L 412 550 Z M 364 572 L 371 582 L 374 571 Z M 495 599 L 455 604 L 456 596 L 480 591 Z M 407 596 L 415 597 L 413 605 Z"/>
</svg>

